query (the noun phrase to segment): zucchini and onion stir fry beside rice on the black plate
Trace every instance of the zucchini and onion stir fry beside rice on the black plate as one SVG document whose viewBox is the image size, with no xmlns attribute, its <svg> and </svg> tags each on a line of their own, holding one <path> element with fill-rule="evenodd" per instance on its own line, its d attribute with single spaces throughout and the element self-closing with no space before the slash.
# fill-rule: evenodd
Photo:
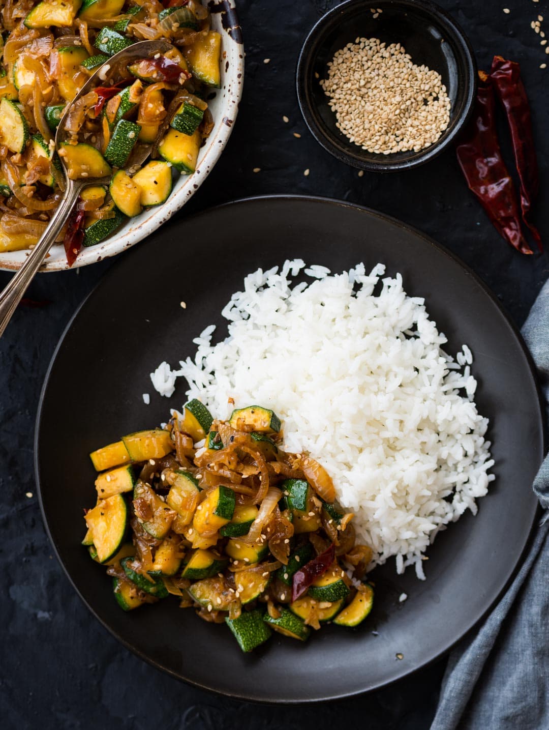
<svg viewBox="0 0 549 730">
<path fill-rule="evenodd" d="M 82 544 L 108 566 L 123 610 L 171 593 L 227 623 L 245 652 L 271 630 L 305 641 L 323 623 L 364 621 L 372 551 L 355 544 L 326 470 L 281 438 L 272 410 L 220 421 L 192 400 L 165 429 L 90 454 L 98 501 Z"/>
</svg>

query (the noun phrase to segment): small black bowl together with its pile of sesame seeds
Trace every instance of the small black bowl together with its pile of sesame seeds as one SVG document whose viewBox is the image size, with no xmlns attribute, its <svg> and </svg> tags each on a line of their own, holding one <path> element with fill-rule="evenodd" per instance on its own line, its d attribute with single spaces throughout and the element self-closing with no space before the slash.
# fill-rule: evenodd
<svg viewBox="0 0 549 730">
<path fill-rule="evenodd" d="M 297 63 L 305 122 L 328 152 L 386 172 L 435 157 L 467 120 L 476 67 L 461 29 L 420 0 L 347 0 L 311 30 Z"/>
</svg>

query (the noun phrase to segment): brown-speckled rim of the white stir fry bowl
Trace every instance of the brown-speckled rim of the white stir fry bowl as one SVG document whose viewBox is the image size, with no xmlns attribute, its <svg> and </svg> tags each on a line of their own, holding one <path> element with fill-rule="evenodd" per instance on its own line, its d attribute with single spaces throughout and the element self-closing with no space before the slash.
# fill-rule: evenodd
<svg viewBox="0 0 549 730">
<path fill-rule="evenodd" d="M 179 176 L 174 184 L 174 191 L 166 203 L 149 208 L 136 218 L 130 218 L 120 228 L 120 231 L 104 242 L 82 248 L 72 269 L 87 266 L 87 264 L 96 264 L 97 261 L 117 255 L 166 223 L 166 220 L 184 206 L 200 188 L 227 144 L 242 96 L 244 46 L 235 11 L 235 0 L 214 0 L 214 2 L 208 3 L 208 7 L 211 12 L 212 28 L 219 31 L 222 37 L 221 88 L 211 90 L 216 92 L 215 98 L 209 101 L 215 126 L 206 139 L 206 144 L 200 149 L 195 172 L 191 175 Z M 28 250 L 0 253 L 0 269 L 9 271 L 19 269 L 28 253 Z M 66 262 L 65 250 L 62 245 L 55 245 L 50 250 L 50 255 L 44 261 L 40 271 L 58 272 L 67 269 L 69 266 Z"/>
</svg>

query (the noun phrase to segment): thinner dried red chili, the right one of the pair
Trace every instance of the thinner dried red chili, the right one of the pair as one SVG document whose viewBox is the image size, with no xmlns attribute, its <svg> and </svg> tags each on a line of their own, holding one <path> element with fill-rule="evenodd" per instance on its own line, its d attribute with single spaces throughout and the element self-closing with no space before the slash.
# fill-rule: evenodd
<svg viewBox="0 0 549 730">
<path fill-rule="evenodd" d="M 521 80 L 521 67 L 515 61 L 505 61 L 501 55 L 494 55 L 490 77 L 494 82 L 499 101 L 505 109 L 513 141 L 515 164 L 521 183 L 522 220 L 532 232 L 541 251 L 543 247 L 540 231 L 529 220 L 532 203 L 540 190 L 540 179 L 532 133 L 532 115 L 526 89 Z"/>
</svg>

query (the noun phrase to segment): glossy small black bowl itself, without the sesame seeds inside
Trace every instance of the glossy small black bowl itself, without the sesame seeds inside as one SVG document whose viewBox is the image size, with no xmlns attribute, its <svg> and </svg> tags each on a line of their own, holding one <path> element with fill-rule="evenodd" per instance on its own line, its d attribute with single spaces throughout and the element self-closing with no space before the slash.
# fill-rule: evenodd
<svg viewBox="0 0 549 730">
<path fill-rule="evenodd" d="M 377 18 L 371 9 L 381 9 Z M 450 123 L 424 150 L 390 155 L 370 153 L 349 142 L 336 126 L 335 112 L 320 85 L 334 53 L 357 37 L 400 43 L 414 64 L 439 72 L 451 100 Z M 308 128 L 338 160 L 372 172 L 408 169 L 438 155 L 467 121 L 475 99 L 477 70 L 469 41 L 458 24 L 424 0 L 347 0 L 312 28 L 297 60 L 297 99 Z"/>
</svg>

